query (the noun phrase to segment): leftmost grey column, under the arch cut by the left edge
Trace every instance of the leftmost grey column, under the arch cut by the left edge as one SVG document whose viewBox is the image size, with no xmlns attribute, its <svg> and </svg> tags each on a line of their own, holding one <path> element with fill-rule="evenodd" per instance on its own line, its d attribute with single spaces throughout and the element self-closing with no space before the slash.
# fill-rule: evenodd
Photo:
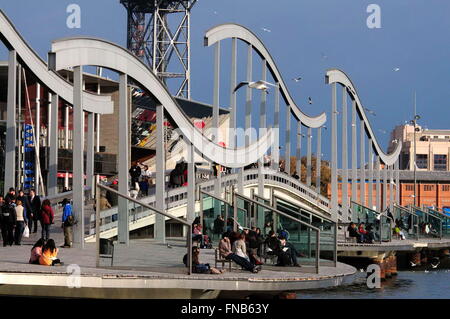
<svg viewBox="0 0 450 319">
<path fill-rule="evenodd" d="M 15 50 L 9 51 L 7 96 L 4 194 L 8 193 L 10 187 L 16 188 L 17 54 Z"/>
</svg>

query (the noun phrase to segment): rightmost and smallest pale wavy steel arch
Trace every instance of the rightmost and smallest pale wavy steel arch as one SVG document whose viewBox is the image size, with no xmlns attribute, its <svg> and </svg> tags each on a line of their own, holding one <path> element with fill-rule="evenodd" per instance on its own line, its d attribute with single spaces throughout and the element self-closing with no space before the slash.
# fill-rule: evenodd
<svg viewBox="0 0 450 319">
<path fill-rule="evenodd" d="M 375 137 L 375 134 L 373 133 L 370 122 L 367 119 L 366 112 L 364 111 L 364 107 L 362 106 L 361 100 L 359 99 L 355 86 L 353 85 L 348 75 L 338 69 L 328 70 L 326 74 L 326 83 L 327 84 L 339 83 L 347 88 L 347 92 L 350 94 L 351 98 L 356 102 L 357 111 L 364 121 L 366 133 L 372 139 L 372 143 L 375 146 L 375 151 L 377 155 L 380 156 L 380 159 L 385 165 L 394 165 L 402 150 L 402 142 L 398 141 L 397 148 L 391 154 L 386 154 L 383 152 L 380 145 L 378 144 L 378 140 Z"/>
</svg>

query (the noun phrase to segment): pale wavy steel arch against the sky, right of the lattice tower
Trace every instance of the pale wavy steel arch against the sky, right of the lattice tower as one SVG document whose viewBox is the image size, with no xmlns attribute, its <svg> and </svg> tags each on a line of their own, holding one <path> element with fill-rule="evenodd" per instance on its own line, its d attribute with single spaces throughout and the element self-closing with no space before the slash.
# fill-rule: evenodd
<svg viewBox="0 0 450 319">
<path fill-rule="evenodd" d="M 259 56 L 267 61 L 269 71 L 271 72 L 275 81 L 280 83 L 281 95 L 287 105 L 291 106 L 291 110 L 298 120 L 303 125 L 311 128 L 318 128 L 325 124 L 327 121 L 326 113 L 322 113 L 316 117 L 311 117 L 303 113 L 297 104 L 292 99 L 283 77 L 275 64 L 274 59 L 270 55 L 263 42 L 249 29 L 235 23 L 227 23 L 215 26 L 209 29 L 205 35 L 205 46 L 211 46 L 218 41 L 222 41 L 229 38 L 237 38 L 248 44 L 251 44 L 254 50 Z"/>
</svg>

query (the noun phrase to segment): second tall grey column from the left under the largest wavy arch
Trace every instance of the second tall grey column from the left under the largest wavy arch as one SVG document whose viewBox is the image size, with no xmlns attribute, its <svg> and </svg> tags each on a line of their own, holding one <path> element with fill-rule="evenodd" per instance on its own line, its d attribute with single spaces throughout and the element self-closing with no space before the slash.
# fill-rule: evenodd
<svg viewBox="0 0 450 319">
<path fill-rule="evenodd" d="M 129 173 L 130 162 L 128 157 L 129 148 L 129 128 L 128 128 L 128 76 L 126 74 L 119 75 L 119 145 L 118 145 L 118 170 L 119 170 L 119 192 L 124 195 L 128 195 L 129 186 Z M 158 125 L 159 123 L 157 123 Z M 161 126 L 157 126 L 160 129 Z M 156 144 L 157 147 L 159 143 Z M 161 184 L 156 187 L 156 190 L 160 188 Z M 131 185 L 134 188 L 134 185 Z M 129 244 L 129 211 L 128 200 L 119 197 L 118 200 L 118 224 L 117 224 L 117 240 L 121 245 Z M 159 214 L 158 214 L 159 215 Z"/>
</svg>

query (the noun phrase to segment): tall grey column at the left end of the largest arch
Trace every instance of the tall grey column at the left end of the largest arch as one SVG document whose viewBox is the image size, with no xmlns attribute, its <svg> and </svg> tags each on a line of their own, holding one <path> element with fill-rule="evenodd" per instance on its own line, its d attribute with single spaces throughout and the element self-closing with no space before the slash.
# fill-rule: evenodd
<svg viewBox="0 0 450 319">
<path fill-rule="evenodd" d="M 83 68 L 73 68 L 73 211 L 78 223 L 73 226 L 73 242 L 84 248 L 84 112 L 83 112 Z"/>
</svg>

